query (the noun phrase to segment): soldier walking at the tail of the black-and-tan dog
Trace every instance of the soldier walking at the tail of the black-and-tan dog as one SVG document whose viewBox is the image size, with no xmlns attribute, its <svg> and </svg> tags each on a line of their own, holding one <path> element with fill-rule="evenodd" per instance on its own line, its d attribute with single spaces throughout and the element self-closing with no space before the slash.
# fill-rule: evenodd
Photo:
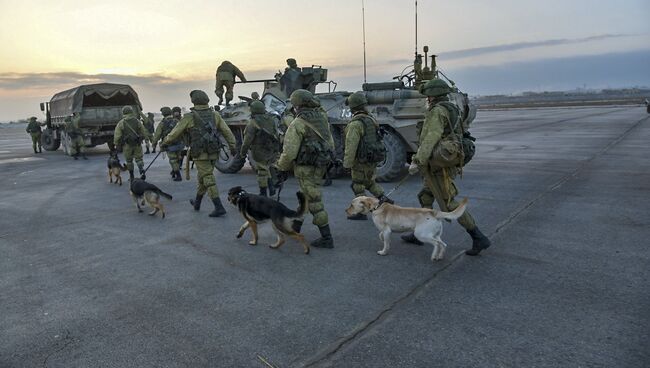
<svg viewBox="0 0 650 368">
<path fill-rule="evenodd" d="M 334 159 L 334 139 L 327 114 L 319 108 L 320 103 L 311 92 L 304 89 L 291 94 L 291 103 L 297 114 L 284 136 L 283 152 L 277 167 L 281 171 L 293 168 L 300 191 L 307 197 L 309 212 L 314 217 L 312 222 L 321 234 L 311 246 L 333 248 L 329 218 L 320 189 L 327 166 Z"/>
</svg>

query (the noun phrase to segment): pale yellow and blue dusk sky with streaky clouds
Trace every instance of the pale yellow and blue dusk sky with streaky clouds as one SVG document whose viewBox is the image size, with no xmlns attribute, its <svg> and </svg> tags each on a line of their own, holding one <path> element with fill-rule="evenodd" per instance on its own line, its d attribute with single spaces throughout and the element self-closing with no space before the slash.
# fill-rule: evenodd
<svg viewBox="0 0 650 368">
<path fill-rule="evenodd" d="M 650 86 L 650 1 L 418 1 L 419 47 L 470 95 Z M 413 60 L 414 1 L 366 0 L 368 81 Z M 131 84 L 144 109 L 213 94 L 222 60 L 249 79 L 294 57 L 363 82 L 361 0 L 0 0 L 0 120 L 79 84 Z M 249 95 L 261 85 L 237 85 Z"/>
</svg>

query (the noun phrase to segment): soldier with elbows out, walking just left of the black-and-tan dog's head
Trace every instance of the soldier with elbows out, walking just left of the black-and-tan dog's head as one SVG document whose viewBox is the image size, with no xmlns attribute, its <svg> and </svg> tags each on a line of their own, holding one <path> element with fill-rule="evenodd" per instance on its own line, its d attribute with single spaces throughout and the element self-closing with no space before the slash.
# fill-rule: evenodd
<svg viewBox="0 0 650 368">
<path fill-rule="evenodd" d="M 169 146 L 179 142 L 183 136 L 189 137 L 189 154 L 198 171 L 196 198 L 190 200 L 190 203 L 195 211 L 199 211 L 203 195 L 208 193 L 214 204 L 214 211 L 209 216 L 219 217 L 226 214 L 214 178 L 214 164 L 219 159 L 222 148 L 220 137 L 226 140 L 233 156 L 237 154 L 237 141 L 221 115 L 208 106 L 210 98 L 205 92 L 194 90 L 190 92 L 190 98 L 194 104 L 192 112 L 183 116 L 165 137 L 163 144 Z"/>
</svg>

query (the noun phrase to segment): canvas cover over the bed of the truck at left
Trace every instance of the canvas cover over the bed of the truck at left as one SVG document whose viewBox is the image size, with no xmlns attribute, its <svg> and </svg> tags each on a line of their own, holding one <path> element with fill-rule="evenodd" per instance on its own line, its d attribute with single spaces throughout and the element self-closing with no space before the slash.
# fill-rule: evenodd
<svg viewBox="0 0 650 368">
<path fill-rule="evenodd" d="M 50 100 L 52 116 L 69 116 L 81 112 L 84 107 L 138 106 L 142 109 L 138 94 L 126 84 L 87 84 L 59 92 Z"/>
</svg>

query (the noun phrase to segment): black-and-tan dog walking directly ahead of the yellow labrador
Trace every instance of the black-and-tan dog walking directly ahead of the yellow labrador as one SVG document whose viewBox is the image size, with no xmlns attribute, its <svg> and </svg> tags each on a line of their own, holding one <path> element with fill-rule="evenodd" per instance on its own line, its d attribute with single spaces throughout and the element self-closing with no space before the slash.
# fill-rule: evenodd
<svg viewBox="0 0 650 368">
<path fill-rule="evenodd" d="M 253 233 L 253 239 L 248 242 L 250 245 L 256 245 L 259 239 L 257 235 L 257 225 L 271 221 L 273 230 L 278 239 L 274 244 L 269 245 L 273 249 L 278 249 L 284 244 L 286 237 L 296 239 L 302 244 L 305 254 L 309 254 L 309 244 L 305 237 L 300 234 L 300 226 L 303 217 L 307 211 L 307 197 L 301 192 L 297 192 L 298 197 L 297 210 L 290 210 L 282 203 L 271 198 L 250 194 L 242 187 L 230 188 L 228 191 L 228 202 L 239 209 L 239 213 L 244 217 L 244 224 L 239 228 L 237 239 L 244 235 L 249 227 Z"/>
</svg>

